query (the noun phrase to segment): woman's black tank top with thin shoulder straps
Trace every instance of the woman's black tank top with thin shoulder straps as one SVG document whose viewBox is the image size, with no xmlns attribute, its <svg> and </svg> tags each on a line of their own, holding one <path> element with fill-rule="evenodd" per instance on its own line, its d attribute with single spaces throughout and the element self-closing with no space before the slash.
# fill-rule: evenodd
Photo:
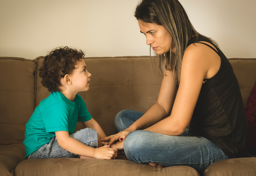
<svg viewBox="0 0 256 176">
<path fill-rule="evenodd" d="M 188 45 L 200 41 L 214 45 L 203 37 L 192 37 Z M 220 56 L 220 68 L 214 77 L 202 82 L 189 133 L 214 142 L 230 158 L 247 157 L 247 120 L 239 84 L 230 62 L 214 46 L 218 52 L 211 48 Z"/>
</svg>

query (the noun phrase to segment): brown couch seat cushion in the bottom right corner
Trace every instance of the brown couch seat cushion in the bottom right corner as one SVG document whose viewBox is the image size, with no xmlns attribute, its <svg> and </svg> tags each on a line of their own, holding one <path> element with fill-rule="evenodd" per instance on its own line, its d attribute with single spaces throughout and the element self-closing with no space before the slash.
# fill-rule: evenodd
<svg viewBox="0 0 256 176">
<path fill-rule="evenodd" d="M 226 159 L 208 166 L 203 176 L 252 176 L 256 175 L 255 166 L 256 157 Z"/>
</svg>

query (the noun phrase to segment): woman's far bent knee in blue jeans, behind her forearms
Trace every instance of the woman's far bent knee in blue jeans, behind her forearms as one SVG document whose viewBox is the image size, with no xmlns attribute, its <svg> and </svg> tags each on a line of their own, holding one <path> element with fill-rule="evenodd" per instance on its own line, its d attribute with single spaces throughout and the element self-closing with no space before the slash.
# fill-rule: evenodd
<svg viewBox="0 0 256 176">
<path fill-rule="evenodd" d="M 143 112 L 136 110 L 122 110 L 115 116 L 114 124 L 117 132 L 123 131 L 143 116 Z"/>
</svg>

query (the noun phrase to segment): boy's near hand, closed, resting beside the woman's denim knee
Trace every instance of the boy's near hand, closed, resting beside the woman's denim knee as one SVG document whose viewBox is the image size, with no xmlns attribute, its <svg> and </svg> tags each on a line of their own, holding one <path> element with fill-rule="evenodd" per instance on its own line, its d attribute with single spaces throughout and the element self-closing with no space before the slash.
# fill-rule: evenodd
<svg viewBox="0 0 256 176">
<path fill-rule="evenodd" d="M 117 149 L 110 148 L 109 145 L 95 149 L 94 158 L 96 159 L 115 159 L 117 157 Z"/>
</svg>

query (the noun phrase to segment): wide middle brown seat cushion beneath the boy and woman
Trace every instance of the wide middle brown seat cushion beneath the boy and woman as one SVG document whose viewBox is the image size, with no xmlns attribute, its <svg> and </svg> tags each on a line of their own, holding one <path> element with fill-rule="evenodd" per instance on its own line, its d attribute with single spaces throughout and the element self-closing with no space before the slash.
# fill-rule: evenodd
<svg viewBox="0 0 256 176">
<path fill-rule="evenodd" d="M 104 176 L 199 176 L 188 166 L 155 168 L 128 160 L 101 160 L 80 158 L 52 158 L 24 160 L 15 169 L 15 176 L 63 176 L 63 175 L 104 175 Z"/>
</svg>

